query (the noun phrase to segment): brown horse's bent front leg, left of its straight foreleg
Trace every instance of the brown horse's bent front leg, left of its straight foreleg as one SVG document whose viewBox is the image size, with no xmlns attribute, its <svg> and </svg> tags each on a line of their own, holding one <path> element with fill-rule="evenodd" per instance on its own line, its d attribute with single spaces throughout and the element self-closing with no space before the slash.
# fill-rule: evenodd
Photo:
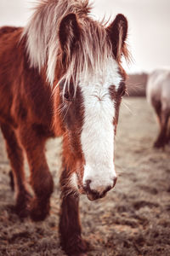
<svg viewBox="0 0 170 256">
<path fill-rule="evenodd" d="M 45 157 L 46 137 L 29 126 L 20 130 L 20 140 L 26 150 L 31 171 L 31 186 L 35 197 L 31 201 L 31 218 L 40 221 L 47 217 L 50 195 L 54 189 L 53 177 L 48 169 Z"/>
</svg>

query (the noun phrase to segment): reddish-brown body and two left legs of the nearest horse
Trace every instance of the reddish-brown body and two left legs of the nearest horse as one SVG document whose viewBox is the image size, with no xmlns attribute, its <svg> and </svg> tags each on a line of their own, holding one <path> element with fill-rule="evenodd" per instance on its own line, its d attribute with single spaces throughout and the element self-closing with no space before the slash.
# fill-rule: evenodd
<svg viewBox="0 0 170 256">
<path fill-rule="evenodd" d="M 23 170 L 22 148 L 25 148 L 31 169 L 31 184 L 37 195 L 32 201 L 31 212 L 34 212 L 36 201 L 40 201 L 39 212 L 32 215 L 32 218 L 42 219 L 48 213 L 48 209 L 44 208 L 44 202 L 48 205 L 49 196 L 53 191 L 53 180 L 44 155 L 44 143 L 47 137 L 53 135 L 53 102 L 48 84 L 44 83 L 35 69 L 28 67 L 26 43 L 24 39 L 20 42 L 21 32 L 21 28 L 8 28 L 1 36 L 0 49 L 3 50 L 0 62 L 3 63 L 3 68 L 0 71 L 0 122 L 7 143 L 8 157 L 13 167 L 17 211 L 20 215 L 26 215 L 27 208 L 30 207 L 26 206 L 26 203 L 23 205 L 23 202 L 28 202 L 30 198 L 27 196 L 29 193 Z M 14 74 L 17 75 L 14 77 Z"/>
</svg>

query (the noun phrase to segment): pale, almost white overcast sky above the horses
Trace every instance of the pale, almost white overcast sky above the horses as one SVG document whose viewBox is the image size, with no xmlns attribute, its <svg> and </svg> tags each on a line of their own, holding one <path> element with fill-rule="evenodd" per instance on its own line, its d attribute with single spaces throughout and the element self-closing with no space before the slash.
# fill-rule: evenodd
<svg viewBox="0 0 170 256">
<path fill-rule="evenodd" d="M 36 0 L 0 0 L 0 26 L 25 26 Z M 94 0 L 95 19 L 122 13 L 129 23 L 133 64 L 127 72 L 170 68 L 170 0 Z"/>
</svg>

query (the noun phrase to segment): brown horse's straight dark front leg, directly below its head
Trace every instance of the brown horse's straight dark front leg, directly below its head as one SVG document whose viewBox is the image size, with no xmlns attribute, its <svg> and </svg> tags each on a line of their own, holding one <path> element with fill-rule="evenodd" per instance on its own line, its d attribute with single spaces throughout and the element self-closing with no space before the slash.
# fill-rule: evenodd
<svg viewBox="0 0 170 256">
<path fill-rule="evenodd" d="M 62 189 L 59 219 L 61 246 L 68 255 L 82 256 L 86 255 L 88 243 L 82 240 L 81 236 L 79 195 L 75 192 L 71 192 L 68 187 L 65 186 L 65 181 L 68 183 L 68 178 L 65 178 L 65 172 L 63 172 L 60 178 Z"/>
</svg>

